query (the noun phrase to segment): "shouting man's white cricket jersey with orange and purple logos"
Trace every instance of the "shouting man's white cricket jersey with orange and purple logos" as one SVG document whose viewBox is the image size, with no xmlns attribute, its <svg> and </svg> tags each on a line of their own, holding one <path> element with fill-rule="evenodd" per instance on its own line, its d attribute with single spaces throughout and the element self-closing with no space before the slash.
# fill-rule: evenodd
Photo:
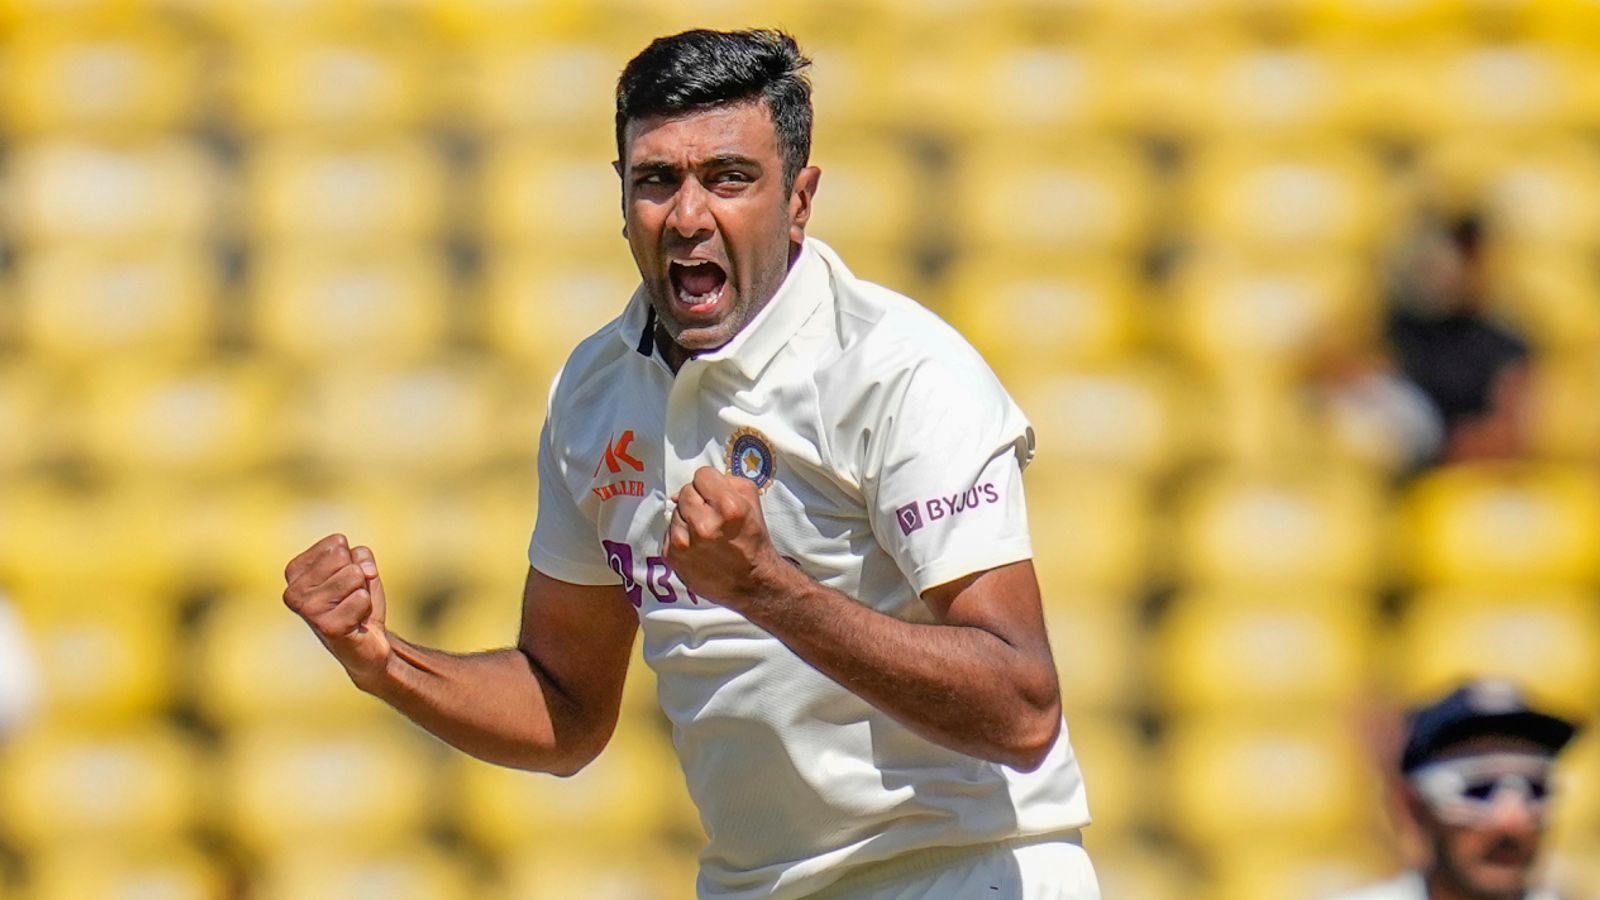
<svg viewBox="0 0 1600 900">
<path fill-rule="evenodd" d="M 643 290 L 550 391 L 534 569 L 621 578 L 709 842 L 701 897 L 803 897 L 909 850 L 1086 825 L 1066 730 L 1038 770 L 917 737 L 662 557 L 669 496 L 701 466 L 752 479 L 778 552 L 910 621 L 920 594 L 1029 559 L 1032 428 L 978 352 L 806 239 L 771 303 L 674 373 Z"/>
</svg>

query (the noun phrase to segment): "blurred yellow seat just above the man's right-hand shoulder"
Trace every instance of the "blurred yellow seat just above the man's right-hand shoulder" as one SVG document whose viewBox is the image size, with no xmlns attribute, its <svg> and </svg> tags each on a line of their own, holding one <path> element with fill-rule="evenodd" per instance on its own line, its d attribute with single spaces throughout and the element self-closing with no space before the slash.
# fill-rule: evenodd
<svg viewBox="0 0 1600 900">
<path fill-rule="evenodd" d="M 1101 259 L 979 256 L 947 279 L 950 323 L 1002 378 L 1115 362 L 1141 330 L 1134 272 Z"/>
</svg>

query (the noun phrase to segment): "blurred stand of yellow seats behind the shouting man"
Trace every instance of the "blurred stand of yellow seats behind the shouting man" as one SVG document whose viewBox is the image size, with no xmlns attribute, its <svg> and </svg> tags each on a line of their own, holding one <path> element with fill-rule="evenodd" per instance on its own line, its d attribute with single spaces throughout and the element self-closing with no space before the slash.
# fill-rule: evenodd
<svg viewBox="0 0 1600 900">
<path fill-rule="evenodd" d="M 635 283 L 616 74 L 754 24 L 813 234 L 1037 426 L 1107 898 L 1395 871 L 1394 711 L 1462 674 L 1592 717 L 1600 3 L 0 0 L 0 898 L 691 895 L 643 666 L 592 769 L 494 770 L 282 567 L 342 530 L 402 634 L 512 641 L 549 378 Z"/>
</svg>

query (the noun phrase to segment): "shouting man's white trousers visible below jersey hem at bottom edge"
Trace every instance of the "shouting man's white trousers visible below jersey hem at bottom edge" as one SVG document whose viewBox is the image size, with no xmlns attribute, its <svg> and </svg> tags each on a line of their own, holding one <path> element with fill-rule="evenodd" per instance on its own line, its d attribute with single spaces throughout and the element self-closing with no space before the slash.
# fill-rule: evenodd
<svg viewBox="0 0 1600 900">
<path fill-rule="evenodd" d="M 986 852 L 918 866 L 861 873 L 824 890 L 827 900 L 1099 900 L 1088 854 L 1077 842 L 995 844 Z"/>
</svg>

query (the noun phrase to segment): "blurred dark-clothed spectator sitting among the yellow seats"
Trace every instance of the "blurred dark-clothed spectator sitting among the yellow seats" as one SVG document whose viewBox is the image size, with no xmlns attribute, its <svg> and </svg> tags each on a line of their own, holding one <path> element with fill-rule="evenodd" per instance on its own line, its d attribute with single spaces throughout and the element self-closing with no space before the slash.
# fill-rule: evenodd
<svg viewBox="0 0 1600 900">
<path fill-rule="evenodd" d="M 1475 215 L 1427 221 L 1397 259 L 1389 343 L 1445 420 L 1437 461 L 1507 460 L 1523 450 L 1528 344 L 1490 315 L 1490 290 Z"/>
</svg>

